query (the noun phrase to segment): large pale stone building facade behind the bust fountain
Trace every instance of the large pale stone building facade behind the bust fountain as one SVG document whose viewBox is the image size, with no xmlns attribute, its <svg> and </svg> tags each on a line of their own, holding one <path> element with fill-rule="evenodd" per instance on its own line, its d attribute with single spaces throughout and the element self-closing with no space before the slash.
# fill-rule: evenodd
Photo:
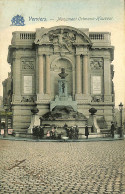
<svg viewBox="0 0 125 194">
<path fill-rule="evenodd" d="M 114 109 L 113 57 L 109 32 L 69 26 L 13 32 L 8 63 L 15 132 L 26 133 L 34 107 L 39 116 L 50 111 L 58 96 L 61 68 L 68 74 L 68 95 L 76 102 L 77 111 L 88 118 L 88 110 L 94 107 L 97 117 L 109 127 Z"/>
</svg>

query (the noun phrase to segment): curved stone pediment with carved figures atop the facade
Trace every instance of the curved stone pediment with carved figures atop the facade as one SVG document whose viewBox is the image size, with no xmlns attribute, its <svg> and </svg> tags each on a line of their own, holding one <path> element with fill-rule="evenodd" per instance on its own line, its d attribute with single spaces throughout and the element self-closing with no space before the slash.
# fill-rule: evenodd
<svg viewBox="0 0 125 194">
<path fill-rule="evenodd" d="M 58 49 L 71 51 L 73 45 L 91 45 L 91 40 L 82 31 L 66 26 L 59 26 L 50 29 L 41 29 L 36 33 L 35 44 L 52 44 Z"/>
</svg>

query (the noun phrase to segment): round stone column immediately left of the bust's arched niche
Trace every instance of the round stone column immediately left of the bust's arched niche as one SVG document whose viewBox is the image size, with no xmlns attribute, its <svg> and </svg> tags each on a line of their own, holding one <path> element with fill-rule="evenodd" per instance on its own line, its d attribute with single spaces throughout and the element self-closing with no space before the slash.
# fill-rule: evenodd
<svg viewBox="0 0 125 194">
<path fill-rule="evenodd" d="M 46 55 L 46 94 L 50 94 L 50 56 Z"/>
</svg>

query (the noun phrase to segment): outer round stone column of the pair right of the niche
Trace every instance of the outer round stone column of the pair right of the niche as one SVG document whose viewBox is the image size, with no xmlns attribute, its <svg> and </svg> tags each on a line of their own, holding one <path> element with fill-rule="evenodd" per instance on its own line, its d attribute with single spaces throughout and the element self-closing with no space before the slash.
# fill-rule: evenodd
<svg viewBox="0 0 125 194">
<path fill-rule="evenodd" d="M 83 94 L 88 94 L 88 56 L 83 56 Z"/>
</svg>

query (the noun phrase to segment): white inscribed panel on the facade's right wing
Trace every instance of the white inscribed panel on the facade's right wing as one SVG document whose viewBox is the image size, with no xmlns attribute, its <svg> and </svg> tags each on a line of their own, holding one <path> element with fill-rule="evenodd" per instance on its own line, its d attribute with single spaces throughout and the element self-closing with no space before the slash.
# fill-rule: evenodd
<svg viewBox="0 0 125 194">
<path fill-rule="evenodd" d="M 92 77 L 92 93 L 101 94 L 101 76 Z"/>
</svg>

